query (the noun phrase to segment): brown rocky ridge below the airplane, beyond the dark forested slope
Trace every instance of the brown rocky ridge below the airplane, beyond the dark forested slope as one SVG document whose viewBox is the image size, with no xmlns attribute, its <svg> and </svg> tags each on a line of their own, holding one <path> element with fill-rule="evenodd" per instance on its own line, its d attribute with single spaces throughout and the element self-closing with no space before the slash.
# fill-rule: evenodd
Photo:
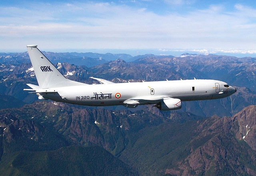
<svg viewBox="0 0 256 176">
<path fill-rule="evenodd" d="M 256 175 L 255 110 L 205 119 L 152 107 L 131 112 L 37 102 L 0 111 L 2 160 L 21 150 L 97 145 L 140 175 Z"/>
</svg>

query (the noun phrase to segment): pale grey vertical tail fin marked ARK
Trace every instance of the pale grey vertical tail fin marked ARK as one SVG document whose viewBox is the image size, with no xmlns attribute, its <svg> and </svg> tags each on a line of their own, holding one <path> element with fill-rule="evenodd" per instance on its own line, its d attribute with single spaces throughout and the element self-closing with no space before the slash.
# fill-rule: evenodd
<svg viewBox="0 0 256 176">
<path fill-rule="evenodd" d="M 86 85 L 84 83 L 71 81 L 64 77 L 37 48 L 37 45 L 27 45 L 27 49 L 40 89 Z"/>
</svg>

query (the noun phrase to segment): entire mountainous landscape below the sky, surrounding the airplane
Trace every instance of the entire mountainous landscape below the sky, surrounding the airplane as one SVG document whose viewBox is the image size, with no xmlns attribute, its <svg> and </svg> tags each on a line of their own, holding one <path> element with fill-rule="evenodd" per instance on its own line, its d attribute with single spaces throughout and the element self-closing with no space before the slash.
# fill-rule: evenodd
<svg viewBox="0 0 256 176">
<path fill-rule="evenodd" d="M 0 55 L 0 173 L 4 175 L 256 175 L 255 58 L 97 53 L 44 54 L 88 84 L 217 79 L 230 97 L 151 105 L 83 107 L 38 101 L 27 53 Z M 75 64 L 79 63 L 79 64 Z"/>
</svg>

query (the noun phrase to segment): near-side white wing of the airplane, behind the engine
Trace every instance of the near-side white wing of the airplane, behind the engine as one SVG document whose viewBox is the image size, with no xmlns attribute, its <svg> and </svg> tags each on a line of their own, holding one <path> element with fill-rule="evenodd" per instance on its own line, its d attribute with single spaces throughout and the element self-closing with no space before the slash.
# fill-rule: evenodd
<svg viewBox="0 0 256 176">
<path fill-rule="evenodd" d="M 157 104 L 164 99 L 170 99 L 167 96 L 146 96 L 146 97 L 134 97 L 132 99 L 128 99 L 124 101 L 127 105 L 147 105 L 147 104 Z"/>
</svg>

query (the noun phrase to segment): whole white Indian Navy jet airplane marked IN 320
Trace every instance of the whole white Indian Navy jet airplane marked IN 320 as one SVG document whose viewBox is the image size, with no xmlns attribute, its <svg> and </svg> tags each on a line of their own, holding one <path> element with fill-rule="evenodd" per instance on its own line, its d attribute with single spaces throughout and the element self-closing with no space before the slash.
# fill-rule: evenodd
<svg viewBox="0 0 256 176">
<path fill-rule="evenodd" d="M 154 105 L 162 111 L 181 109 L 182 101 L 211 100 L 228 97 L 236 89 L 223 81 L 188 79 L 113 83 L 94 78 L 101 84 L 89 85 L 67 79 L 54 67 L 37 45 L 27 45 L 38 85 L 27 84 L 38 99 L 85 106 Z"/>
</svg>

